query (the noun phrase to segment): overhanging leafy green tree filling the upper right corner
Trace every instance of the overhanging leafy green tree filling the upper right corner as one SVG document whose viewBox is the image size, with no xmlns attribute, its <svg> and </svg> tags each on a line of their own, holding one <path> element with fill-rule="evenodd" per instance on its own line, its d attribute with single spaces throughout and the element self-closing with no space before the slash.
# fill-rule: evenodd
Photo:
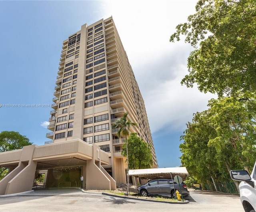
<svg viewBox="0 0 256 212">
<path fill-rule="evenodd" d="M 195 50 L 182 84 L 204 92 L 230 95 L 256 91 L 255 0 L 199 0 L 196 13 L 176 26 L 170 42 L 180 40 Z"/>
</svg>

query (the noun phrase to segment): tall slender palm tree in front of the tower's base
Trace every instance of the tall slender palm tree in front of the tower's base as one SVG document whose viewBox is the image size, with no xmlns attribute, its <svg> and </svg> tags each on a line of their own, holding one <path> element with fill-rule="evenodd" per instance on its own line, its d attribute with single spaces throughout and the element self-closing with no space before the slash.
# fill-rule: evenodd
<svg viewBox="0 0 256 212">
<path fill-rule="evenodd" d="M 125 142 L 126 142 L 126 162 L 127 162 L 127 191 L 126 195 L 129 195 L 129 159 L 128 159 L 128 144 L 127 144 L 127 136 L 130 135 L 130 127 L 132 126 L 137 126 L 136 123 L 131 122 L 130 120 L 127 119 L 128 113 L 124 113 L 124 115 L 120 118 L 117 119 L 114 124 L 113 128 L 119 128 L 117 132 L 118 138 L 121 137 L 121 135 L 125 136 Z"/>
</svg>

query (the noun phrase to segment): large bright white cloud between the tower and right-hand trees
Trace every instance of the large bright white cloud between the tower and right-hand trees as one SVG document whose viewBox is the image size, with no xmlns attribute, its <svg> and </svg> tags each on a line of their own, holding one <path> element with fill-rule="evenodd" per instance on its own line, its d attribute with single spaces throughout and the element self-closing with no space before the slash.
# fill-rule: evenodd
<svg viewBox="0 0 256 212">
<path fill-rule="evenodd" d="M 178 24 L 195 13 L 197 0 L 109 1 L 105 17 L 113 16 L 145 101 L 152 133 L 182 131 L 193 113 L 207 109 L 213 94 L 182 86 L 193 48 L 184 40 L 170 43 Z M 110 12 L 111 11 L 111 12 Z"/>
</svg>

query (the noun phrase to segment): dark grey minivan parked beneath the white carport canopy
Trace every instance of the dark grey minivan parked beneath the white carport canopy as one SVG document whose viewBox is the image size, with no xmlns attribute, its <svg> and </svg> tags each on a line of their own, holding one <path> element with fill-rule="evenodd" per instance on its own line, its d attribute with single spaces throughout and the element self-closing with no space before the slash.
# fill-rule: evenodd
<svg viewBox="0 0 256 212">
<path fill-rule="evenodd" d="M 181 187 L 181 191 L 180 191 Z M 176 198 L 176 190 L 182 193 L 183 196 L 188 196 L 189 191 L 184 182 L 179 184 L 174 180 L 169 179 L 158 179 L 151 180 L 148 183 L 139 186 L 137 188 L 138 194 L 141 196 L 171 196 L 172 198 Z M 175 191 L 174 191 L 175 188 Z"/>
</svg>

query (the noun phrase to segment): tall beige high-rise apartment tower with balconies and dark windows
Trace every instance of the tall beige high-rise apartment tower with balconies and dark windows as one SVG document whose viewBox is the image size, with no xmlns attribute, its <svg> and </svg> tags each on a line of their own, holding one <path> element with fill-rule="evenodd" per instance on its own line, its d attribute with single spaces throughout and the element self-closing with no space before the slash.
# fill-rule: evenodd
<svg viewBox="0 0 256 212">
<path fill-rule="evenodd" d="M 153 168 L 158 167 L 144 101 L 112 17 L 84 24 L 64 40 L 54 96 L 48 143 L 81 139 L 98 145 L 109 156 L 104 169 L 126 183 L 124 138 L 112 123 L 128 112 L 138 124 L 131 132 L 151 145 Z"/>
</svg>

